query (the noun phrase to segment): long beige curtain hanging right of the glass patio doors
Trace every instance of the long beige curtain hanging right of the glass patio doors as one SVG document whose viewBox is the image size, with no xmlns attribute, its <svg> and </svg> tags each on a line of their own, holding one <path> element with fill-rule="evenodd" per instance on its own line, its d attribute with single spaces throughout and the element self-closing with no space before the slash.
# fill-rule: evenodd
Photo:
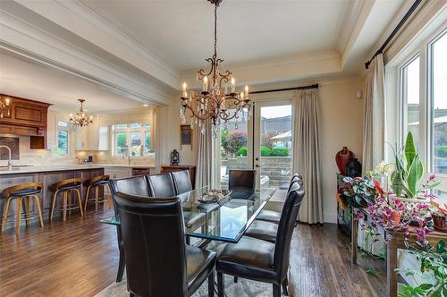
<svg viewBox="0 0 447 297">
<path fill-rule="evenodd" d="M 304 197 L 299 221 L 323 223 L 317 89 L 299 90 L 293 99 L 293 172 L 302 174 Z"/>
</svg>

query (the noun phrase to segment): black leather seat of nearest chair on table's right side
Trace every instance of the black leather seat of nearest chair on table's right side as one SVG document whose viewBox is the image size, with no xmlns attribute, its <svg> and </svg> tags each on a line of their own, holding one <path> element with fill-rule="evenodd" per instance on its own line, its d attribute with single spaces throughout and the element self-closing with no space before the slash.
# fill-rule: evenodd
<svg viewBox="0 0 447 297">
<path fill-rule="evenodd" d="M 238 243 L 225 244 L 215 268 L 223 274 L 272 283 L 276 276 L 274 243 L 242 236 Z"/>
</svg>

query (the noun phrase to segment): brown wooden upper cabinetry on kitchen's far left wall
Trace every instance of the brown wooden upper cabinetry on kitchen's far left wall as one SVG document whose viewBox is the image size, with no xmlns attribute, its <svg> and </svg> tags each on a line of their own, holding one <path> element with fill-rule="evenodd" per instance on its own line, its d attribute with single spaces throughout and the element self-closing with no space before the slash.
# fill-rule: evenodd
<svg viewBox="0 0 447 297">
<path fill-rule="evenodd" d="M 47 111 L 50 104 L 0 94 L 10 99 L 10 114 L 0 119 L 0 133 L 30 136 L 30 148 L 46 148 Z"/>
</svg>

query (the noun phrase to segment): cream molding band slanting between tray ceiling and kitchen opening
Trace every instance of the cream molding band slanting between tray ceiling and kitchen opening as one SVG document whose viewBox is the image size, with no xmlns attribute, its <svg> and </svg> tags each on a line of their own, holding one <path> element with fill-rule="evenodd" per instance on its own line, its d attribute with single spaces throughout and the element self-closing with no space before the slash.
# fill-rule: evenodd
<svg viewBox="0 0 447 297">
<path fill-rule="evenodd" d="M 115 58 L 146 72 L 155 80 L 174 88 L 178 84 L 179 71 L 150 48 L 106 21 L 85 3 L 76 1 L 35 2 L 17 0 L 17 4 L 37 13 L 56 26 L 70 31 L 73 36 L 87 40 Z M 76 21 L 74 21 L 76 20 Z M 57 29 L 56 29 L 57 30 Z M 60 31 L 60 29 L 59 29 Z M 70 40 L 67 40 L 70 42 Z M 119 62 L 117 61 L 114 61 Z"/>
</svg>

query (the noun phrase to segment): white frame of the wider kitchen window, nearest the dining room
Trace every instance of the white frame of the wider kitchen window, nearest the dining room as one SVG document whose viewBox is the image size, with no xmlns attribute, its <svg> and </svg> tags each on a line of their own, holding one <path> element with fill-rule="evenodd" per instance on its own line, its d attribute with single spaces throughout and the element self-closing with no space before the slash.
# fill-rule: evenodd
<svg viewBox="0 0 447 297">
<path fill-rule="evenodd" d="M 132 123 L 135 123 L 135 122 L 132 122 Z M 119 134 L 119 133 L 126 133 L 126 145 L 130 146 L 130 144 L 131 144 L 131 132 L 140 132 L 141 133 L 140 140 L 141 140 L 141 143 L 144 146 L 145 142 L 146 142 L 145 135 L 146 135 L 146 132 L 148 132 L 149 135 L 150 135 L 150 144 L 151 144 L 150 149 L 154 150 L 153 149 L 153 143 L 154 143 L 153 137 L 154 137 L 154 135 L 152 133 L 152 125 L 153 125 L 153 123 L 145 121 L 145 122 L 139 123 L 139 124 L 141 124 L 141 127 L 139 127 L 139 128 L 131 128 L 129 126 L 132 123 L 115 123 L 115 124 L 112 125 L 112 129 L 111 129 L 111 134 L 112 134 L 111 136 L 112 137 L 110 138 L 111 142 L 112 142 L 111 143 L 111 148 L 112 148 L 111 149 L 111 155 L 112 155 L 112 157 L 122 157 L 122 154 L 117 154 L 116 153 L 116 135 Z M 146 127 L 146 123 L 149 124 L 148 128 Z M 119 125 L 119 124 L 126 124 L 127 128 L 125 128 L 125 129 L 117 129 L 116 125 Z M 143 148 L 143 155 L 142 156 L 136 156 L 136 157 L 155 157 L 155 153 L 146 154 L 145 150 Z"/>
</svg>

